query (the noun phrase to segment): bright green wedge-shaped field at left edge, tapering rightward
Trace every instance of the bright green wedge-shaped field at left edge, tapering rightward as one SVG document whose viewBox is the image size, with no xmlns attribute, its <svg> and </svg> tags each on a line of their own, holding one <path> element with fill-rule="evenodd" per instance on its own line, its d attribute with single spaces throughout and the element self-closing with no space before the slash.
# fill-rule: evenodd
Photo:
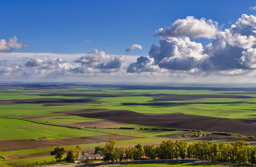
<svg viewBox="0 0 256 167">
<path fill-rule="evenodd" d="M 37 139 L 39 137 L 49 139 L 77 138 L 83 136 L 102 135 L 104 133 L 85 131 L 81 129 L 70 129 L 68 127 L 43 125 L 25 120 L 0 118 L 0 134 L 1 141 L 12 139 Z"/>
</svg>

